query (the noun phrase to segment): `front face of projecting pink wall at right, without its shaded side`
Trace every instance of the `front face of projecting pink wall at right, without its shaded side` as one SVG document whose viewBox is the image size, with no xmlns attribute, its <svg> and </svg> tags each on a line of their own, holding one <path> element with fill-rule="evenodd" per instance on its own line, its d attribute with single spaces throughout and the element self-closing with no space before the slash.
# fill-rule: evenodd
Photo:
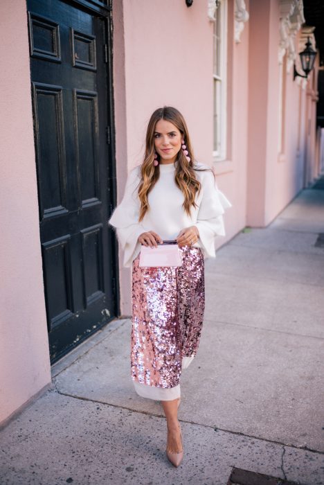
<svg viewBox="0 0 324 485">
<path fill-rule="evenodd" d="M 284 105 L 284 148 L 278 154 L 278 117 L 280 116 L 278 46 L 280 42 L 278 19 L 279 3 L 271 1 L 269 15 L 269 82 L 267 119 L 267 170 L 265 211 L 263 225 L 269 224 L 282 209 L 303 188 L 303 166 L 298 156 L 298 111 L 300 85 L 294 81 L 292 66 L 283 73 L 285 90 L 282 94 Z M 296 43 L 297 45 L 297 43 Z M 303 147 L 301 148 L 303 150 Z"/>
</svg>

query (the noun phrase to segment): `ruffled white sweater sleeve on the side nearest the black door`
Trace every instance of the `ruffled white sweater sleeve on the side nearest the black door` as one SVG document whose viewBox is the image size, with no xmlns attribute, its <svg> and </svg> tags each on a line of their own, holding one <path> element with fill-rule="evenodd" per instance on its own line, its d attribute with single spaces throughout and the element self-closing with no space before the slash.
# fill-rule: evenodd
<svg viewBox="0 0 324 485">
<path fill-rule="evenodd" d="M 123 200 L 111 214 L 108 224 L 116 228 L 118 241 L 124 251 L 123 265 L 132 266 L 132 261 L 141 250 L 138 236 L 145 232 L 138 222 L 140 201 L 137 186 L 139 182 L 138 167 L 131 170 L 127 177 Z"/>
</svg>

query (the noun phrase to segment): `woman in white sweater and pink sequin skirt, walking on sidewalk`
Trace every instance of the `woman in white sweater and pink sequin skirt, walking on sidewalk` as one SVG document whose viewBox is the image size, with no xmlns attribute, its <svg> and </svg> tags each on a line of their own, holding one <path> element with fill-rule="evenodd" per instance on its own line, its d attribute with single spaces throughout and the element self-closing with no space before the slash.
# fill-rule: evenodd
<svg viewBox="0 0 324 485">
<path fill-rule="evenodd" d="M 161 400 L 168 427 L 166 453 L 183 458 L 177 409 L 180 376 L 197 353 L 204 319 L 204 258 L 215 257 L 231 206 L 213 171 L 194 161 L 186 121 L 174 107 L 156 109 L 147 126 L 143 164 L 128 176 L 109 220 L 132 266 L 131 369 L 136 392 Z M 176 240 L 179 267 L 139 265 L 141 246 Z"/>
</svg>

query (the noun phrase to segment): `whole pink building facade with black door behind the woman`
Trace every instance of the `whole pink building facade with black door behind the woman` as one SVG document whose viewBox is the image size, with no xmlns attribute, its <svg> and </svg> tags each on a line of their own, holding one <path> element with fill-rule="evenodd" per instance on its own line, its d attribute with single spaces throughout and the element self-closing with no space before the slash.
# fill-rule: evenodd
<svg viewBox="0 0 324 485">
<path fill-rule="evenodd" d="M 55 8 L 53 8 L 55 4 Z M 130 315 L 109 214 L 157 107 L 185 116 L 233 204 L 226 238 L 266 227 L 323 170 L 314 28 L 301 0 L 3 0 L 0 423 L 56 362 Z"/>
</svg>

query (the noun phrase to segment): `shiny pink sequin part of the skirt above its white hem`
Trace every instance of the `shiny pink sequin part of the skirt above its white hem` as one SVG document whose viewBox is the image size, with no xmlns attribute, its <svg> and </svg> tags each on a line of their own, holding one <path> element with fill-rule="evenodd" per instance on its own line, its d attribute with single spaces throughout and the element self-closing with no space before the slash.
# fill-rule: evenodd
<svg viewBox="0 0 324 485">
<path fill-rule="evenodd" d="M 179 267 L 132 265 L 132 379 L 170 388 L 179 384 L 183 356 L 196 355 L 205 308 L 204 255 L 180 247 Z"/>
</svg>

